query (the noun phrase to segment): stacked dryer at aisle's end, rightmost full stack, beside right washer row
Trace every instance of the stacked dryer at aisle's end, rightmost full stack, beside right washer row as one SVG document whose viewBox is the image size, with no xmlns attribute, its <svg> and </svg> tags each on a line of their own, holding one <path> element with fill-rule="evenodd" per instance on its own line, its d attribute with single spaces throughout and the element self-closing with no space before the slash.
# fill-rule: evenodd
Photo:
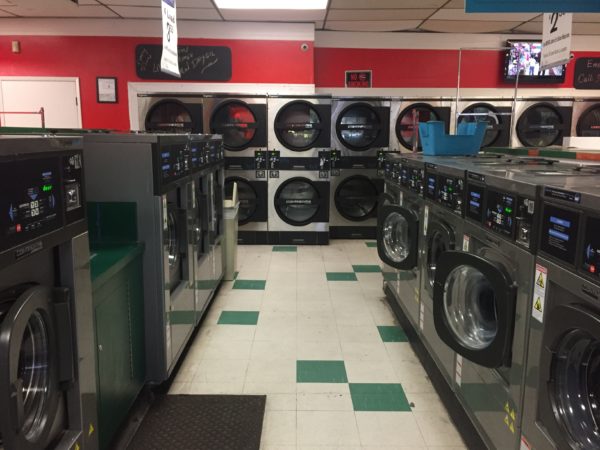
<svg viewBox="0 0 600 450">
<path fill-rule="evenodd" d="M 333 238 L 373 239 L 383 179 L 378 158 L 389 149 L 390 99 L 334 98 L 331 128 Z"/>
</svg>

